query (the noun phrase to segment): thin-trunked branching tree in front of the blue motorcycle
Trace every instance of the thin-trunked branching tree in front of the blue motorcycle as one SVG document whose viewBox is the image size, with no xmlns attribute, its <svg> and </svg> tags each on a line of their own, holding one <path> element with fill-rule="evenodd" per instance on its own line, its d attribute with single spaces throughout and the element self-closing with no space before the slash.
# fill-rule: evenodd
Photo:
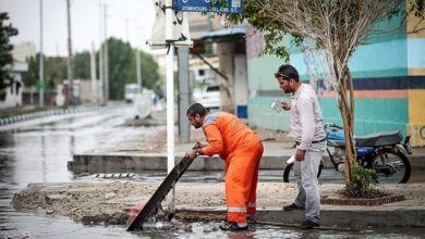
<svg viewBox="0 0 425 239">
<path fill-rule="evenodd" d="M 220 0 L 222 1 L 222 0 Z M 405 3 L 406 2 L 406 3 Z M 367 36 L 375 34 L 376 24 L 394 16 L 403 22 L 414 14 L 424 20 L 425 0 L 245 0 L 242 14 L 229 14 L 230 23 L 247 20 L 254 27 L 266 32 L 265 52 L 289 59 L 289 51 L 279 45 L 291 35 L 300 47 L 312 40 L 324 51 L 330 73 L 329 79 L 338 95 L 338 105 L 345 136 L 345 183 L 352 179 L 356 151 L 353 144 L 354 95 L 349 59 Z M 412 32 L 421 30 L 417 21 Z M 304 45 L 302 50 L 309 50 Z"/>
</svg>

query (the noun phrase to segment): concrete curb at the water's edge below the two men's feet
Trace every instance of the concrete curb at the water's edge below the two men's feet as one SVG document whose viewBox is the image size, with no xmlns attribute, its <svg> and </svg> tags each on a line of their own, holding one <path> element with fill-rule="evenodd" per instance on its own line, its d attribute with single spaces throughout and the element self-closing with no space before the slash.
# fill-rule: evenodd
<svg viewBox="0 0 425 239">
<path fill-rule="evenodd" d="M 387 206 L 320 205 L 321 226 L 348 227 L 425 227 L 425 209 Z M 177 209 L 177 216 L 185 219 L 226 218 L 226 209 Z M 299 225 L 305 221 L 304 211 L 259 209 L 256 221 Z"/>
</svg>

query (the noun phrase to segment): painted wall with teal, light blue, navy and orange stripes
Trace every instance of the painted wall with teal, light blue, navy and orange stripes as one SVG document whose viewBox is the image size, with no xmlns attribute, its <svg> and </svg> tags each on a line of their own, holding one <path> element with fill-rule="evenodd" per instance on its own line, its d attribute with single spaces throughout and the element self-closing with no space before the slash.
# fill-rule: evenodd
<svg viewBox="0 0 425 239">
<path fill-rule="evenodd" d="M 373 36 L 356 48 L 349 66 L 355 89 L 355 135 L 381 130 L 401 130 L 411 135 L 413 146 L 425 146 L 425 33 L 406 34 L 414 24 L 408 21 L 398 34 Z M 394 18 L 389 25 L 399 24 Z M 404 33 L 402 33 L 404 32 Z M 271 55 L 258 56 L 263 37 L 246 34 L 247 78 L 250 90 L 248 122 L 253 126 L 289 130 L 289 112 L 269 108 L 274 99 L 290 100 L 274 76 L 284 62 Z M 308 56 L 288 43 L 302 80 L 317 89 L 325 122 L 342 125 L 336 93 L 324 90 L 326 79 L 311 80 Z"/>
</svg>

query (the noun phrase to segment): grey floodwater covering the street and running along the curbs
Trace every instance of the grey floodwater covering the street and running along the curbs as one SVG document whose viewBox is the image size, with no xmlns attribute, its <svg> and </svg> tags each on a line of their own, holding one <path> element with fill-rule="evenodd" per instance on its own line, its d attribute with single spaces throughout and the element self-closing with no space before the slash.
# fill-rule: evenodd
<svg viewBox="0 0 425 239">
<path fill-rule="evenodd" d="M 97 146 L 116 144 L 122 137 L 158 128 L 134 130 L 122 124 L 131 118 L 131 108 L 106 112 L 52 116 L 0 128 L 0 238 L 422 238 L 422 228 L 385 228 L 361 231 L 311 230 L 277 226 L 254 226 L 246 232 L 223 232 L 221 222 L 191 223 L 177 230 L 127 232 L 125 226 L 86 226 L 70 218 L 47 215 L 42 210 L 15 210 L 13 194 L 32 183 L 102 180 L 77 177 L 66 162 L 74 153 L 93 151 Z M 162 126 L 161 126 L 162 127 Z M 165 172 L 136 173 L 134 180 L 161 181 Z M 221 172 L 187 172 L 181 183 L 222 181 Z M 281 171 L 260 172 L 260 181 L 282 181 Z M 341 181 L 335 171 L 325 171 L 320 181 Z M 282 192 L 284 193 L 284 192 Z"/>
</svg>

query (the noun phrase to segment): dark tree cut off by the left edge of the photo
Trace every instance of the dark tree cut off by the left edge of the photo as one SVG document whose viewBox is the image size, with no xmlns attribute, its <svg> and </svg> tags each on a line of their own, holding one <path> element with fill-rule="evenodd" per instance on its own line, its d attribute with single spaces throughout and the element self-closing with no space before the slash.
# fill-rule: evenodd
<svg viewBox="0 0 425 239">
<path fill-rule="evenodd" d="M 5 66 L 13 64 L 11 51 L 13 46 L 9 38 L 17 35 L 17 29 L 5 23 L 9 20 L 7 12 L 0 12 L 0 90 L 7 88 L 13 83 L 12 76 Z"/>
</svg>

